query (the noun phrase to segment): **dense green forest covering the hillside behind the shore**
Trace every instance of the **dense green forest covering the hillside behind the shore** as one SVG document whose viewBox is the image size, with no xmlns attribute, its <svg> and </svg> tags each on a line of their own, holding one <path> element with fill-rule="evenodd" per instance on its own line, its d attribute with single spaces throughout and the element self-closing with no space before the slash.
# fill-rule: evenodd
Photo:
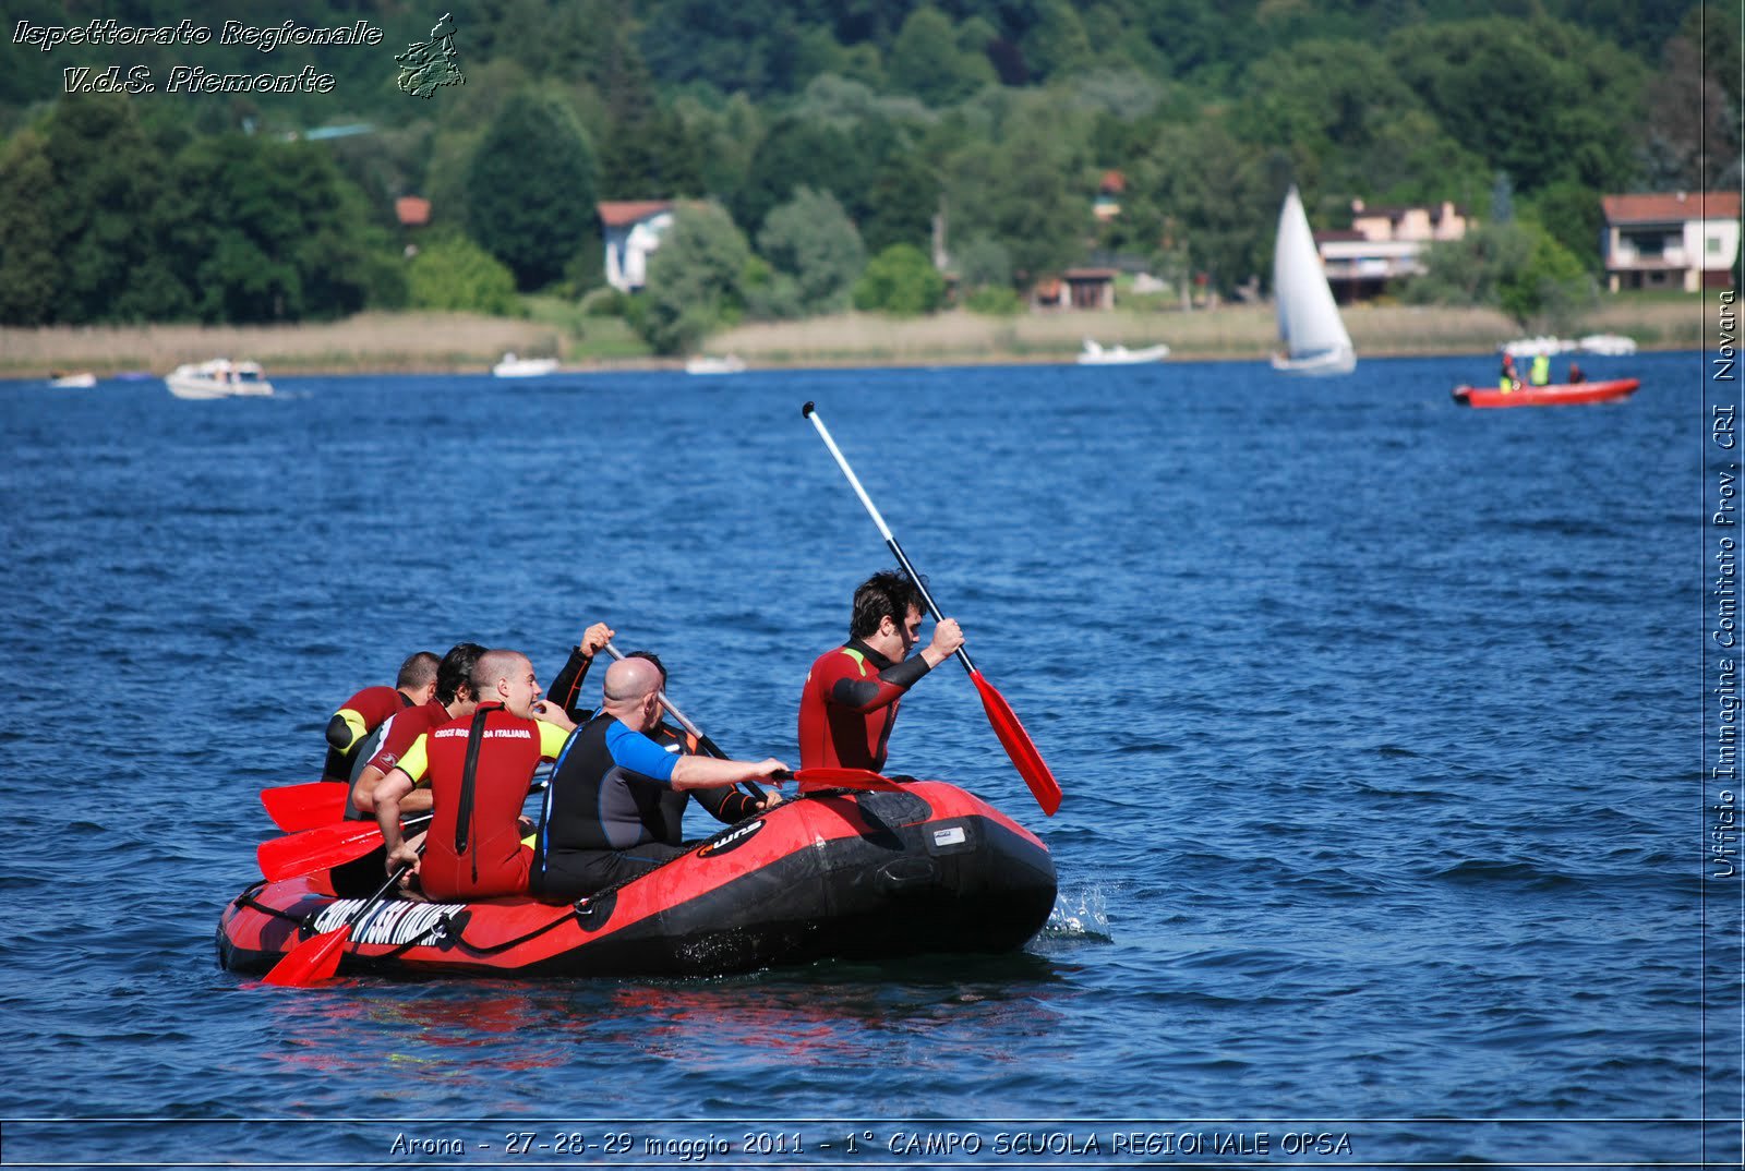
<svg viewBox="0 0 1745 1171">
<path fill-rule="evenodd" d="M 604 284 L 602 199 L 688 201 L 642 295 L 592 293 L 660 349 L 742 316 L 925 312 L 941 246 L 989 311 L 1091 260 L 1255 295 L 1291 181 L 1317 229 L 1352 199 L 1454 201 L 1591 283 L 1602 192 L 1742 168 L 1740 0 L 471 0 L 445 7 L 464 84 L 429 98 L 394 56 L 441 10 L 403 0 L 298 5 L 302 30 L 377 42 L 270 51 L 222 31 L 263 5 L 12 9 L 14 325 L 513 312 Z M 94 19 L 215 35 L 44 44 Z M 154 89 L 66 92 L 112 66 Z M 188 92 L 176 66 L 325 82 Z M 408 194 L 433 208 L 415 236 Z"/>
</svg>

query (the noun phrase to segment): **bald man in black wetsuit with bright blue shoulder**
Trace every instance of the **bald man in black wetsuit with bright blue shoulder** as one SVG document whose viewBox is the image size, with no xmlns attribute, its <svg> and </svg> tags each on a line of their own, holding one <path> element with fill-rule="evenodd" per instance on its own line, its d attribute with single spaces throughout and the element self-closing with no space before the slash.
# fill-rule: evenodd
<svg viewBox="0 0 1745 1171">
<path fill-rule="evenodd" d="M 770 780 L 787 764 L 717 761 L 667 752 L 660 726 L 661 670 L 625 658 L 606 670 L 599 714 L 576 729 L 546 789 L 532 894 L 569 902 L 630 881 L 686 852 L 681 818 L 691 791 Z"/>
</svg>

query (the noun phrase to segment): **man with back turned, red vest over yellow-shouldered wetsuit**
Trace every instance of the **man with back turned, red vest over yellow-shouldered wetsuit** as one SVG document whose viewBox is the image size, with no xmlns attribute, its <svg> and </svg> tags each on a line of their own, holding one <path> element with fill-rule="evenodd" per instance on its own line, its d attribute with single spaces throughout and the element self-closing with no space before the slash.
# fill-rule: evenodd
<svg viewBox="0 0 1745 1171">
<path fill-rule="evenodd" d="M 574 729 L 558 705 L 539 702 L 534 665 L 520 651 L 482 654 L 473 695 L 471 716 L 431 728 L 375 787 L 387 871 L 417 864 L 424 895 L 438 902 L 527 890 L 534 857 L 522 845 L 527 784 Z M 421 780 L 433 799 L 422 862 L 400 829 L 400 801 Z"/>
</svg>

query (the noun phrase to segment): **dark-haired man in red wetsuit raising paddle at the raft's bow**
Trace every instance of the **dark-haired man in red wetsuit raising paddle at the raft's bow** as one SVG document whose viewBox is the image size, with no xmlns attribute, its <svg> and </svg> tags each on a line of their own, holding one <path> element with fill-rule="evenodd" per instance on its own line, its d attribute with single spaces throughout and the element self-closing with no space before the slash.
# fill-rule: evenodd
<svg viewBox="0 0 1745 1171">
<path fill-rule="evenodd" d="M 963 646 L 956 620 L 946 618 L 907 658 L 920 640 L 921 602 L 921 590 L 897 571 L 855 590 L 848 642 L 818 656 L 799 695 L 801 768 L 885 768 L 904 693 Z"/>
</svg>

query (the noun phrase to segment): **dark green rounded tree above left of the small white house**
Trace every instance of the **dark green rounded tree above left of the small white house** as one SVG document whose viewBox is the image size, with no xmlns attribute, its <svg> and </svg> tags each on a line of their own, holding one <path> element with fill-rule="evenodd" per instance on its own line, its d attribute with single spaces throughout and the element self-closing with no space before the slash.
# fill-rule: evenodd
<svg viewBox="0 0 1745 1171">
<path fill-rule="evenodd" d="M 593 150 L 555 103 L 524 92 L 485 133 L 466 173 L 468 234 L 522 290 L 564 276 L 597 230 Z"/>
</svg>

